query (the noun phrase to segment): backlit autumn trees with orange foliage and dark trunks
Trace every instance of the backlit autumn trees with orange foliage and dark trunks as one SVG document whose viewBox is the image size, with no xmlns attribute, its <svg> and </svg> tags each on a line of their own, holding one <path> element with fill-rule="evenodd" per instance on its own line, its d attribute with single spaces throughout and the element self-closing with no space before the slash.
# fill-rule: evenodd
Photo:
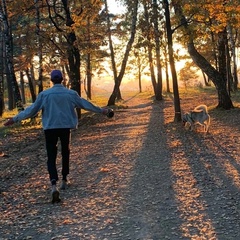
<svg viewBox="0 0 240 240">
<path fill-rule="evenodd" d="M 129 75 L 131 69 L 139 69 L 137 64 L 141 62 L 145 72 L 149 69 L 146 76 L 149 75 L 156 100 L 161 100 L 165 81 L 177 81 L 179 73 L 175 76 L 172 69 L 170 74 L 168 68 L 179 57 L 176 46 L 181 46 L 188 50 L 189 59 L 218 90 L 218 107 L 229 109 L 233 106 L 230 91 L 236 91 L 238 86 L 238 0 L 116 0 L 114 4 L 125 8 L 117 13 L 109 11 L 109 4 L 113 2 L 2 1 L 1 52 L 4 60 L 1 64 L 5 67 L 0 69 L 0 96 L 4 95 L 2 85 L 6 79 L 8 97 L 14 96 L 12 104 L 21 102 L 23 93 L 20 95 L 17 90 L 20 76 L 32 85 L 33 96 L 49 87 L 49 72 L 59 68 L 65 75 L 66 86 L 80 95 L 81 85 L 86 83 L 84 89 L 89 98 L 92 78 L 107 72 L 113 81 L 108 105 L 114 105 L 116 99 L 121 99 L 123 77 Z M 171 55 L 168 55 L 169 50 Z M 144 60 L 134 60 L 141 56 Z M 173 60 L 171 64 L 169 58 Z M 135 67 L 129 67 L 134 63 Z M 165 79 L 163 72 L 167 73 Z M 142 71 L 138 71 L 136 81 L 142 79 L 141 74 Z M 169 89 L 169 82 L 166 84 Z M 173 91 L 177 87 L 173 84 Z M 175 104 L 180 103 L 176 101 Z"/>
</svg>

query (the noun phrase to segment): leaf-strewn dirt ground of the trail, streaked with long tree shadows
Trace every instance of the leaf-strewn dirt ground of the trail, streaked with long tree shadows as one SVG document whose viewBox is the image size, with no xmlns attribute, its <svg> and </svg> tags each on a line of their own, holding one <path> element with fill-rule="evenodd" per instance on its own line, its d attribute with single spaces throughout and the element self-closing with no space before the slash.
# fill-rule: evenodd
<svg viewBox="0 0 240 240">
<path fill-rule="evenodd" d="M 50 203 L 42 131 L 2 136 L 1 240 L 240 239 L 240 110 L 210 111 L 204 134 L 173 123 L 171 98 L 125 104 L 114 119 L 94 115 L 73 131 L 60 204 Z"/>
</svg>

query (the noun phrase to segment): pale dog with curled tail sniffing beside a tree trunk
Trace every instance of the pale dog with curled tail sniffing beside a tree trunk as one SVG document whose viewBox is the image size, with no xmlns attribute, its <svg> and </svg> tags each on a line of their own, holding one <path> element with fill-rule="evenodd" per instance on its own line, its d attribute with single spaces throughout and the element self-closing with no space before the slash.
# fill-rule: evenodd
<svg viewBox="0 0 240 240">
<path fill-rule="evenodd" d="M 204 132 L 208 132 L 210 126 L 210 115 L 206 105 L 199 105 L 189 113 L 185 113 L 182 118 L 183 125 L 190 124 L 190 129 L 193 130 L 196 124 L 204 126 Z"/>
</svg>

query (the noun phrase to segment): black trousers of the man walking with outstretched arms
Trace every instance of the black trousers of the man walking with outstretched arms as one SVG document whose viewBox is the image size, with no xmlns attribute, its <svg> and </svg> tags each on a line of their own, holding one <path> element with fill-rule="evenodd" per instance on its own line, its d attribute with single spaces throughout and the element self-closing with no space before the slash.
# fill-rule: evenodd
<svg viewBox="0 0 240 240">
<path fill-rule="evenodd" d="M 62 177 L 66 180 L 69 174 L 69 155 L 70 155 L 70 135 L 69 128 L 48 129 L 44 131 L 47 150 L 47 167 L 50 177 L 50 181 L 58 181 L 58 173 L 56 168 L 57 158 L 57 142 L 58 138 L 61 141 L 61 153 L 62 153 Z"/>
</svg>

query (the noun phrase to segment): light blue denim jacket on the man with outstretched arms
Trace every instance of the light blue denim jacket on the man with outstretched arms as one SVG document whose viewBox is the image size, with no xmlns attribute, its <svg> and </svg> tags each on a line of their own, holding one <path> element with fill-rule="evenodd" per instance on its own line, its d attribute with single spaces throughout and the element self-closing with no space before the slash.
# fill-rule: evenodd
<svg viewBox="0 0 240 240">
<path fill-rule="evenodd" d="M 25 110 L 13 117 L 18 122 L 33 117 L 42 110 L 43 129 L 76 128 L 78 117 L 76 108 L 82 108 L 95 113 L 103 113 L 103 109 L 81 98 L 74 90 L 65 88 L 62 84 L 39 93 L 36 101 Z"/>
</svg>

